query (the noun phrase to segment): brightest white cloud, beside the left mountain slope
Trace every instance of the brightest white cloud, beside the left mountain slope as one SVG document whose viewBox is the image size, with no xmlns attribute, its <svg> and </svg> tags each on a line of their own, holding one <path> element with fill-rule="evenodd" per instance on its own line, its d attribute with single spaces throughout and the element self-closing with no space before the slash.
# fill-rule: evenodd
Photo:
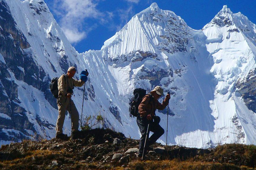
<svg viewBox="0 0 256 170">
<path fill-rule="evenodd" d="M 85 29 L 85 19 L 100 19 L 104 14 L 97 10 L 97 3 L 92 0 L 55 0 L 54 13 L 60 17 L 60 27 L 71 43 L 76 43 L 84 38 L 92 27 Z M 103 17 L 104 18 L 104 17 Z"/>
</svg>

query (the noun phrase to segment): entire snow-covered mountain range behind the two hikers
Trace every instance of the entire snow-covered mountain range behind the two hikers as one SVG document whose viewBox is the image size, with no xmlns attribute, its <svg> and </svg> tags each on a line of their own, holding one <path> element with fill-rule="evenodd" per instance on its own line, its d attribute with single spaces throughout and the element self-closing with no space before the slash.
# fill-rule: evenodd
<svg viewBox="0 0 256 170">
<path fill-rule="evenodd" d="M 168 145 L 256 143 L 256 26 L 243 14 L 223 6 L 202 30 L 194 30 L 153 3 L 106 40 L 101 50 L 78 53 L 43 0 L 0 3 L 0 34 L 13 48 L 19 47 L 10 53 L 0 41 L 1 145 L 55 136 L 58 111 L 49 82 L 69 66 L 77 67 L 78 73 L 88 69 L 83 113 L 102 115 L 104 128 L 139 139 L 136 119 L 128 113 L 133 90 L 150 92 L 161 85 L 164 93 L 171 93 Z M 2 24 L 7 22 L 4 16 L 12 18 L 8 28 Z M 23 61 L 17 62 L 21 55 Z M 81 113 L 83 87 L 74 93 Z M 167 109 L 156 114 L 166 131 Z M 66 117 L 64 132 L 70 134 L 70 127 Z M 165 141 L 166 133 L 158 142 Z"/>
</svg>

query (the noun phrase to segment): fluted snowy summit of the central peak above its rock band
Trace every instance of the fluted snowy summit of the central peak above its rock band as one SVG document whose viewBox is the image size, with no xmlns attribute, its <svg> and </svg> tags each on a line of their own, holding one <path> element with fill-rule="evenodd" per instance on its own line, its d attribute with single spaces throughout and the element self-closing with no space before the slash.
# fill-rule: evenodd
<svg viewBox="0 0 256 170">
<path fill-rule="evenodd" d="M 161 10 L 153 3 L 132 17 L 119 32 L 104 42 L 101 49 L 110 51 L 108 58 L 111 60 L 138 50 L 156 52 L 156 49 L 160 49 L 171 53 L 186 51 L 191 30 L 174 12 Z M 181 40 L 177 41 L 177 37 Z"/>
</svg>

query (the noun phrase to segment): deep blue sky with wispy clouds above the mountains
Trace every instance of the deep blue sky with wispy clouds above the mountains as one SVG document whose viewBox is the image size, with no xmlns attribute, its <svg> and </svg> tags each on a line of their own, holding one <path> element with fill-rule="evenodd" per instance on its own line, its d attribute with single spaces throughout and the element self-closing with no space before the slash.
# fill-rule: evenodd
<svg viewBox="0 0 256 170">
<path fill-rule="evenodd" d="M 135 14 L 156 2 L 193 29 L 202 29 L 227 5 L 256 24 L 256 0 L 45 0 L 54 18 L 78 52 L 99 50 Z"/>
</svg>

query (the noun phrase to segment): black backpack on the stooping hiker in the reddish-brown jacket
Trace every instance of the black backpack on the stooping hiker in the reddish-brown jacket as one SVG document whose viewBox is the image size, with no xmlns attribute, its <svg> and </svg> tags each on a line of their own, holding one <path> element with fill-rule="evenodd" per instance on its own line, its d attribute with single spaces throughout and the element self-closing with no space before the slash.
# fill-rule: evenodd
<svg viewBox="0 0 256 170">
<path fill-rule="evenodd" d="M 133 95 L 134 97 L 131 99 L 129 103 L 130 104 L 129 112 L 130 112 L 130 117 L 132 116 L 137 117 L 138 111 L 139 111 L 139 105 L 142 101 L 142 98 L 146 95 L 146 90 L 141 88 L 134 89 Z"/>
</svg>

